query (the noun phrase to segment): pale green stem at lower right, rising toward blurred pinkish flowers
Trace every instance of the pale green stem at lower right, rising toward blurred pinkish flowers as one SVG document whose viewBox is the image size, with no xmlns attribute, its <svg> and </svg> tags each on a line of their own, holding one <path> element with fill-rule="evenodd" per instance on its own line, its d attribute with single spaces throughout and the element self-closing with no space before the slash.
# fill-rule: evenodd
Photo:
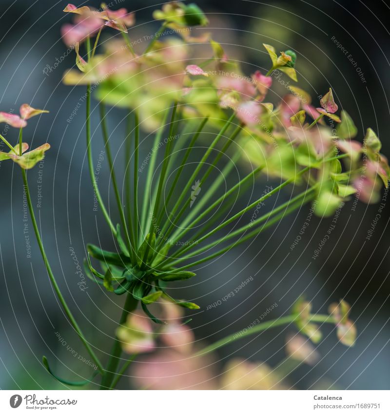
<svg viewBox="0 0 390 414">
<path fill-rule="evenodd" d="M 222 338 L 219 341 L 214 342 L 214 344 L 211 344 L 211 345 L 207 346 L 206 348 L 203 348 L 202 350 L 197 352 L 194 356 L 206 355 L 206 354 L 209 354 L 213 351 L 216 351 L 217 349 L 219 349 L 219 348 L 221 348 L 225 345 L 228 345 L 228 344 L 230 344 L 230 343 L 232 343 L 232 342 L 234 342 L 238 339 L 244 338 L 246 336 L 258 334 L 259 332 L 265 331 L 269 328 L 275 328 L 277 326 L 290 324 L 290 323 L 294 322 L 295 320 L 297 320 L 299 318 L 299 316 L 300 316 L 299 314 L 292 314 L 292 315 L 288 315 L 288 316 L 282 316 L 282 317 L 279 317 L 277 319 L 262 322 L 262 323 L 260 323 L 256 326 L 254 326 L 251 329 L 247 329 L 246 331 L 245 330 L 238 331 L 235 334 L 228 335 L 225 338 Z M 332 324 L 335 323 L 334 317 L 329 316 L 329 315 L 311 315 L 309 317 L 309 321 L 310 322 L 332 323 Z"/>
</svg>

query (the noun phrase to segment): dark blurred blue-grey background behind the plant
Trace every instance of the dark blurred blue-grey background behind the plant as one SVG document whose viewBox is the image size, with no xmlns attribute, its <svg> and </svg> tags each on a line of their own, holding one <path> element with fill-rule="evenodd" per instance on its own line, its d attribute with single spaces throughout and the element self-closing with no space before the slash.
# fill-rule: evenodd
<svg viewBox="0 0 390 414">
<path fill-rule="evenodd" d="M 99 7 L 99 1 L 88 4 Z M 355 120 L 359 139 L 371 126 L 383 142 L 382 152 L 390 155 L 387 1 L 200 0 L 197 4 L 207 13 L 214 38 L 225 45 L 230 58 L 242 62 L 245 73 L 268 69 L 270 62 L 262 47 L 264 42 L 273 44 L 276 50 L 295 50 L 299 86 L 311 93 L 314 104 L 317 104 L 315 97 L 331 86 L 340 109 L 346 109 Z M 81 263 L 87 242 L 109 249 L 114 241 L 102 215 L 93 211 L 94 194 L 85 157 L 84 107 L 71 123 L 66 121 L 84 88 L 69 88 L 61 83 L 64 70 L 73 66 L 75 60 L 73 53 L 66 56 L 66 47 L 60 39 L 60 26 L 71 20 L 71 16 L 62 12 L 65 6 L 65 1 L 1 1 L 0 110 L 18 113 L 24 102 L 50 110 L 38 124 L 31 120 L 25 130 L 24 138 L 32 147 L 46 140 L 52 146 L 43 167 L 28 172 L 33 202 L 38 203 L 41 179 L 42 200 L 36 212 L 43 242 L 64 296 L 104 358 L 103 352 L 110 348 L 120 314 L 121 298 L 106 295 L 88 280 L 86 289 L 81 291 L 69 250 L 74 249 Z M 137 27 L 129 31 L 130 37 L 133 33 L 150 34 L 158 29 L 158 23 L 151 19 L 152 11 L 157 8 L 153 2 L 125 0 L 118 2 L 118 6 L 136 11 Z M 365 82 L 334 39 L 357 62 Z M 63 61 L 45 74 L 44 68 L 54 66 L 56 59 Z M 276 92 L 278 87 L 275 86 Z M 279 93 L 283 94 L 283 89 Z M 96 102 L 93 108 L 95 105 Z M 125 128 L 124 116 L 125 111 L 116 110 L 110 118 L 110 128 L 117 128 L 119 137 Z M 103 143 L 96 129 L 96 110 L 92 122 L 93 159 L 97 164 Z M 17 130 L 4 130 L 4 125 L 0 125 L 0 133 L 16 142 Z M 117 142 L 113 139 L 113 145 L 120 176 L 123 167 L 119 139 Z M 147 142 L 142 151 L 149 152 Z M 68 378 L 74 376 L 72 371 L 89 375 L 91 369 L 79 363 L 57 338 L 58 332 L 67 345 L 87 357 L 49 283 L 30 218 L 27 223 L 31 258 L 26 257 L 20 171 L 11 162 L 1 162 L 0 173 L 0 388 L 61 388 L 41 365 L 42 355 L 47 355 L 56 371 Z M 112 189 L 109 191 L 106 163 L 99 175 L 99 186 L 109 202 L 113 221 L 119 221 L 114 194 Z M 261 194 L 263 187 L 260 181 L 254 191 Z M 280 199 L 287 196 L 280 195 Z M 316 260 L 312 260 L 313 250 L 331 220 L 313 217 L 302 240 L 291 250 L 308 215 L 309 208 L 304 207 L 254 243 L 202 266 L 191 283 L 177 285 L 177 297 L 186 297 L 201 306 L 191 322 L 197 339 L 211 343 L 245 328 L 274 302 L 278 307 L 269 317 L 286 314 L 294 299 L 302 294 L 312 301 L 313 311 L 321 313 L 327 312 L 331 302 L 345 298 L 352 306 L 351 318 L 358 329 L 356 345 L 346 348 L 337 342 L 332 328 L 324 326 L 324 339 L 317 347 L 320 362 L 314 367 L 301 366 L 290 375 L 289 382 L 301 389 L 389 389 L 390 208 L 386 205 L 373 236 L 366 240 L 378 205 L 359 203 L 355 211 L 351 206 L 350 203 L 343 208 L 331 240 Z M 206 311 L 208 305 L 250 276 L 254 280 L 237 295 Z M 284 342 L 289 332 L 294 332 L 293 327 L 270 330 L 250 337 L 250 341 L 237 341 L 222 348 L 217 366 L 222 367 L 233 355 L 275 366 L 285 355 Z M 126 381 L 121 384 L 123 388 L 129 386 Z"/>
</svg>

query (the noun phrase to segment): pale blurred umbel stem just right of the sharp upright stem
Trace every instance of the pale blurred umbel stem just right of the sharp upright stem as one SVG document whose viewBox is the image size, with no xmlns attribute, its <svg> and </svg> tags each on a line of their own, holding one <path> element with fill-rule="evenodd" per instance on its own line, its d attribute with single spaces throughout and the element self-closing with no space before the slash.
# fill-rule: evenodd
<svg viewBox="0 0 390 414">
<path fill-rule="evenodd" d="M 144 192 L 143 202 L 142 202 L 141 228 L 142 228 L 143 233 L 146 233 L 147 229 L 149 228 L 150 224 L 148 225 L 148 217 L 150 216 L 150 213 L 153 211 L 154 202 L 156 201 L 156 197 L 155 197 L 156 194 L 153 194 L 152 196 L 151 188 L 152 188 L 153 173 L 155 172 L 156 160 L 157 160 L 157 154 L 158 154 L 157 145 L 160 142 L 162 134 L 164 132 L 164 126 L 167 122 L 170 109 L 171 108 L 167 108 L 167 110 L 165 111 L 161 126 L 156 132 L 155 141 L 153 143 L 152 156 L 149 162 L 148 174 L 146 176 L 146 183 L 145 183 L 145 192 Z M 148 197 L 151 197 L 154 202 L 152 202 L 152 200 L 148 200 Z"/>
</svg>

